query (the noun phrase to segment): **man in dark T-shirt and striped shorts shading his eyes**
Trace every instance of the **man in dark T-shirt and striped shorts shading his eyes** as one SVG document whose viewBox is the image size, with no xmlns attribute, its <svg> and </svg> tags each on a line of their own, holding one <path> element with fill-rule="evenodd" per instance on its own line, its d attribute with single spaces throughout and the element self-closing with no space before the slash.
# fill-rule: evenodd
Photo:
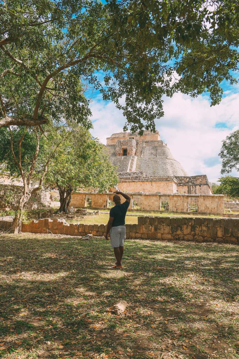
<svg viewBox="0 0 239 359">
<path fill-rule="evenodd" d="M 126 238 L 125 231 L 125 215 L 130 204 L 130 197 L 125 193 L 116 191 L 113 197 L 115 206 L 110 209 L 110 219 L 107 224 L 106 230 L 106 239 L 109 239 L 110 233 L 110 242 L 111 248 L 114 248 L 116 264 L 112 267 L 115 269 L 122 268 L 122 256 L 124 252 L 124 240 Z M 126 201 L 124 203 L 120 202 L 120 196 L 123 196 Z"/>
</svg>

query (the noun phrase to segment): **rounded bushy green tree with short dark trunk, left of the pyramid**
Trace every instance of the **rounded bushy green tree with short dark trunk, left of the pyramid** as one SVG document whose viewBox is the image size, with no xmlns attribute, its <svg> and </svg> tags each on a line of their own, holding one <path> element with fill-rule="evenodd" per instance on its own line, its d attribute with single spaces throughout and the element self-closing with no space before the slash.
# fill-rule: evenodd
<svg viewBox="0 0 239 359">
<path fill-rule="evenodd" d="M 72 191 L 104 192 L 118 183 L 104 145 L 81 126 L 73 126 L 67 136 L 68 131 L 64 134 L 67 139 L 58 146 L 44 178 L 46 186 L 58 188 L 61 204 L 58 211 L 66 213 Z"/>
</svg>

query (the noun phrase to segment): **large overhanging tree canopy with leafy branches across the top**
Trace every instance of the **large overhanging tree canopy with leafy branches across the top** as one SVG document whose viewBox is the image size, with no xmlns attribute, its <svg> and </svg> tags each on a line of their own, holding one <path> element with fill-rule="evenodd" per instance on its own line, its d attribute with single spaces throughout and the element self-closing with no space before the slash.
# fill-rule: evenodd
<svg viewBox="0 0 239 359">
<path fill-rule="evenodd" d="M 221 81 L 237 81 L 238 13 L 229 0 L 3 1 L 0 127 L 62 117 L 83 124 L 85 86 L 140 133 L 155 130 L 163 95 L 209 91 L 218 104 Z"/>
</svg>

